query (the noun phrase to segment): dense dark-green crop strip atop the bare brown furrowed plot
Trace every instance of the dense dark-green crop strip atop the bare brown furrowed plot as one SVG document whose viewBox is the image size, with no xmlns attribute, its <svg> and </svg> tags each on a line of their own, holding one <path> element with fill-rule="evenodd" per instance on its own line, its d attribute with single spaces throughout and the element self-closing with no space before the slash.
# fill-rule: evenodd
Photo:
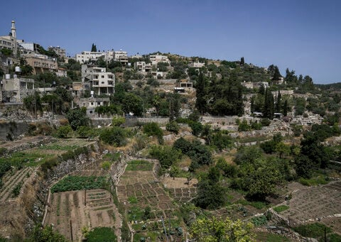
<svg viewBox="0 0 341 242">
<path fill-rule="evenodd" d="M 106 182 L 105 177 L 77 177 L 69 176 L 60 180 L 51 187 L 51 192 L 67 192 L 82 189 L 97 189 L 104 187 Z"/>
</svg>

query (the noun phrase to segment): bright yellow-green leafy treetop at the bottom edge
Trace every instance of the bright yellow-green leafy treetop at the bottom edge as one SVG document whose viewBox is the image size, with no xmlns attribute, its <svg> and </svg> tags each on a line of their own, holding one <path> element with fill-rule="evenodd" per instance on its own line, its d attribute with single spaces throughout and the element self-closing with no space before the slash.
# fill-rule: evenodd
<svg viewBox="0 0 341 242">
<path fill-rule="evenodd" d="M 240 220 L 232 221 L 228 218 L 212 219 L 200 218 L 190 226 L 190 236 L 198 242 L 218 241 L 254 241 L 253 225 Z"/>
</svg>

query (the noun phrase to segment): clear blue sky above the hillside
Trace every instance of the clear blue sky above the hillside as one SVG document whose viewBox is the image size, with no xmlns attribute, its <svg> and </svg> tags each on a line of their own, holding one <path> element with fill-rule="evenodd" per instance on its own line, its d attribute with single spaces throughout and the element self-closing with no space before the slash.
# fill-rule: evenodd
<svg viewBox="0 0 341 242">
<path fill-rule="evenodd" d="M 6 10 L 6 11 L 5 11 Z M 286 67 L 315 83 L 341 82 L 341 1 L 1 1 L 0 35 L 74 56 L 123 49 Z"/>
</svg>

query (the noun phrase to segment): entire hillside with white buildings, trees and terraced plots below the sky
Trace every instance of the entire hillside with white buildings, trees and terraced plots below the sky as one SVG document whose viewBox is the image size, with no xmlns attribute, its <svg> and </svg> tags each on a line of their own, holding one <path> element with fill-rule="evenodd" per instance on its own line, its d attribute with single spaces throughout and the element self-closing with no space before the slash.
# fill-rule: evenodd
<svg viewBox="0 0 341 242">
<path fill-rule="evenodd" d="M 0 36 L 5 241 L 209 241 L 215 221 L 245 241 L 341 241 L 337 84 L 16 36 L 14 21 Z"/>
</svg>

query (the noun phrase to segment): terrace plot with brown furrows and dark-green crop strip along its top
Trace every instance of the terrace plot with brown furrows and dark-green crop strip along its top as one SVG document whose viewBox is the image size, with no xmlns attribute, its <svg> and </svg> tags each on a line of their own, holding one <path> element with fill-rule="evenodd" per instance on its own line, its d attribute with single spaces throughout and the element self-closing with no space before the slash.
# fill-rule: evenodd
<svg viewBox="0 0 341 242">
<path fill-rule="evenodd" d="M 45 225 L 72 241 L 80 241 L 82 230 L 97 227 L 118 228 L 117 209 L 105 187 L 106 177 L 65 177 L 51 187 L 50 206 Z M 116 223 L 116 224 L 115 224 Z"/>
</svg>

